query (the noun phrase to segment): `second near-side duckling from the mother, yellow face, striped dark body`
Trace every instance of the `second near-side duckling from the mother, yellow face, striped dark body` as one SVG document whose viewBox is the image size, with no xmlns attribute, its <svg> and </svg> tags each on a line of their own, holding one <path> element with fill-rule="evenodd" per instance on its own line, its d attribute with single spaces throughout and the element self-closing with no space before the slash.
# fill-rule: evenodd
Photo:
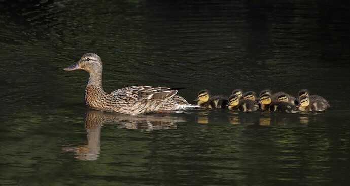
<svg viewBox="0 0 350 186">
<path fill-rule="evenodd" d="M 244 112 L 253 112 L 258 109 L 258 106 L 255 104 L 255 101 L 250 99 L 239 100 L 237 95 L 231 95 L 229 98 L 228 109 L 234 111 L 244 111 Z"/>
</svg>

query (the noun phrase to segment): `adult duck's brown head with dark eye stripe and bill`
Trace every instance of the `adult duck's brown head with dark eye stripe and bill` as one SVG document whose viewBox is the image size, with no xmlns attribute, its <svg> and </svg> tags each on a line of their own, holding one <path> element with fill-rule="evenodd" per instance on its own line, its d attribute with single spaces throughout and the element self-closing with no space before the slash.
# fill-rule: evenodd
<svg viewBox="0 0 350 186">
<path fill-rule="evenodd" d="M 85 70 L 87 72 L 102 70 L 102 60 L 95 53 L 86 53 L 80 58 L 80 60 L 76 64 L 64 68 L 63 70 Z"/>
</svg>

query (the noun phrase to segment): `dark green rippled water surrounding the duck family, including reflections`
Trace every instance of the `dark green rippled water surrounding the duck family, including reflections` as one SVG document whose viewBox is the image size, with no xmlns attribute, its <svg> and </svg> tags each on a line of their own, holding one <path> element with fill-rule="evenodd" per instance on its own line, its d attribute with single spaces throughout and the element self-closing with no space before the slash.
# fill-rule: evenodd
<svg viewBox="0 0 350 186">
<path fill-rule="evenodd" d="M 350 4 L 0 1 L 1 185 L 346 185 Z M 127 116 L 86 109 L 87 52 L 104 90 L 308 88 L 327 112 Z M 103 125 L 103 126 L 102 126 Z M 169 130 L 167 130 L 169 129 Z"/>
</svg>

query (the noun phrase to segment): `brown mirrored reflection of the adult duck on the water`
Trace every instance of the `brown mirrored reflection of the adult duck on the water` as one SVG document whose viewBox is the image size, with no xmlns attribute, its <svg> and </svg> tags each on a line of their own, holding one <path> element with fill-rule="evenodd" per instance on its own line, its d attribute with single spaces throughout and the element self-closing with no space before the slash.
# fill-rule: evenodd
<svg viewBox="0 0 350 186">
<path fill-rule="evenodd" d="M 97 160 L 101 149 L 101 127 L 104 123 L 117 123 L 118 128 L 138 130 L 176 129 L 178 122 L 185 122 L 170 115 L 125 115 L 102 111 L 87 111 L 84 127 L 87 145 L 64 147 L 63 151 L 74 152 L 79 160 Z"/>
</svg>

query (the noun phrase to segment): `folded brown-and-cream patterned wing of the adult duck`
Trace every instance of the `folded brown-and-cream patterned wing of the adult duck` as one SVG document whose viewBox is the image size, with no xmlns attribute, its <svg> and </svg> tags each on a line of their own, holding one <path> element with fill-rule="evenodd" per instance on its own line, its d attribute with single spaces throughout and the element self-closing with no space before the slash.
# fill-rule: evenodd
<svg viewBox="0 0 350 186">
<path fill-rule="evenodd" d="M 119 101 L 134 102 L 143 99 L 165 100 L 176 95 L 178 90 L 166 87 L 152 86 L 129 86 L 115 90 L 111 93 L 112 99 Z"/>
</svg>

